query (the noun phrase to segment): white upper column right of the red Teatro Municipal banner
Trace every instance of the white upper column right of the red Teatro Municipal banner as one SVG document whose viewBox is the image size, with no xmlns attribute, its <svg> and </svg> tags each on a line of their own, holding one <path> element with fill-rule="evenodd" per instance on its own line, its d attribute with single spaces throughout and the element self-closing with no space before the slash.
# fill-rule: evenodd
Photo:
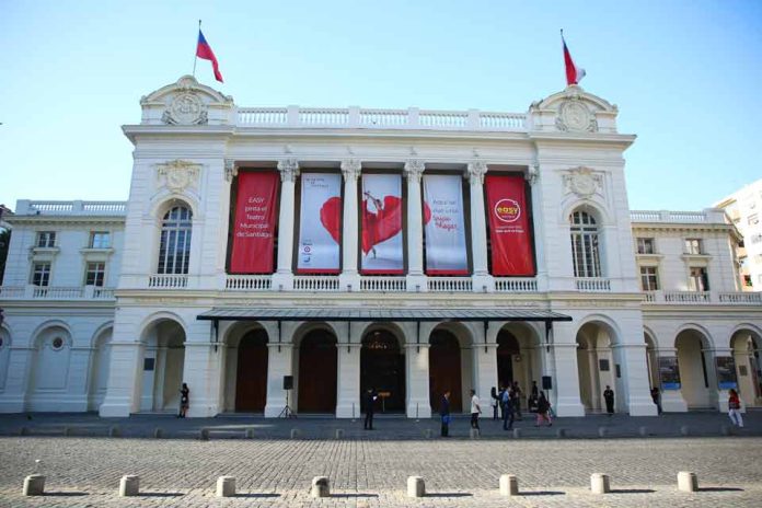
<svg viewBox="0 0 762 508">
<path fill-rule="evenodd" d="M 284 159 L 278 161 L 280 172 L 280 212 L 278 215 L 278 269 L 273 276 L 275 291 L 293 289 L 291 270 L 293 256 L 293 210 L 296 208 L 295 187 L 299 176 L 299 161 Z"/>
</svg>

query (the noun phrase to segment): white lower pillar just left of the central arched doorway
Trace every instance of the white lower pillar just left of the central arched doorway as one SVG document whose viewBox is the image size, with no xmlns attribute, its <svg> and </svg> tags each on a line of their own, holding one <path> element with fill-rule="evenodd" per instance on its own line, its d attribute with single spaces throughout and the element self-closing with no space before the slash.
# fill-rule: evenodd
<svg viewBox="0 0 762 508">
<path fill-rule="evenodd" d="M 336 418 L 360 417 L 360 332 L 368 323 L 333 323 L 338 331 L 336 345 Z"/>
</svg>

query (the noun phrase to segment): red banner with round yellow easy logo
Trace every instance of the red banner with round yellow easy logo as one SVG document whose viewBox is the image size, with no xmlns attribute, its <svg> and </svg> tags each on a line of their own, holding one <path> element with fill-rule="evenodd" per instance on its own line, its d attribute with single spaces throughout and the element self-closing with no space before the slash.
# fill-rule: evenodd
<svg viewBox="0 0 762 508">
<path fill-rule="evenodd" d="M 529 210 L 521 175 L 487 174 L 493 275 L 534 275 Z"/>
</svg>

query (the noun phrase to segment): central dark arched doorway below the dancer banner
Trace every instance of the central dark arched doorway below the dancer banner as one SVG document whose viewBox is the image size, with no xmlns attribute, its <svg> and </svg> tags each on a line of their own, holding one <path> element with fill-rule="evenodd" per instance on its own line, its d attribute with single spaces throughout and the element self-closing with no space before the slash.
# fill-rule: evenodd
<svg viewBox="0 0 762 508">
<path fill-rule="evenodd" d="M 382 397 L 380 408 L 385 413 L 405 411 L 405 356 L 397 338 L 385 330 L 372 331 L 362 338 L 360 394 L 369 388 Z"/>
</svg>

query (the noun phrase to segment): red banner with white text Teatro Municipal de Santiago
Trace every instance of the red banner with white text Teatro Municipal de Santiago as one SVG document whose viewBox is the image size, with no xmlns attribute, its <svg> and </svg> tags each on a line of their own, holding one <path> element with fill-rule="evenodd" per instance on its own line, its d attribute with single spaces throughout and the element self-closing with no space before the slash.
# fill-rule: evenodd
<svg viewBox="0 0 762 508">
<path fill-rule="evenodd" d="M 278 209 L 278 173 L 241 171 L 238 176 L 231 274 L 272 274 Z"/>
</svg>

